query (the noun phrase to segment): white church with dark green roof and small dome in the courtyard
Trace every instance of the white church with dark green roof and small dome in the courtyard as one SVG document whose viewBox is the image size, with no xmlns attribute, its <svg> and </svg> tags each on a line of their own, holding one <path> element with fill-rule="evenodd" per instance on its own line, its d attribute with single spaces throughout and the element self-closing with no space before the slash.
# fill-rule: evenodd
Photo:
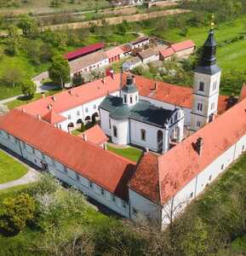
<svg viewBox="0 0 246 256">
<path fill-rule="evenodd" d="M 99 108 L 101 128 L 113 143 L 134 144 L 163 153 L 169 150 L 170 143 L 183 139 L 183 110 L 158 108 L 140 100 L 132 76 L 127 78 L 120 96 L 106 96 Z"/>
</svg>

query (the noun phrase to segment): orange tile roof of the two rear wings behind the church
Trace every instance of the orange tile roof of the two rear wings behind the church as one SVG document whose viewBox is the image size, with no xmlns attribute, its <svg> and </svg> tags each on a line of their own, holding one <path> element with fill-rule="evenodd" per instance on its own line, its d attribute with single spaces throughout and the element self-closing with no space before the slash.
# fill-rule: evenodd
<svg viewBox="0 0 246 256">
<path fill-rule="evenodd" d="M 126 79 L 126 74 L 123 75 L 123 80 Z M 27 113 L 33 115 L 44 114 L 49 112 L 48 106 L 51 105 L 56 113 L 64 112 L 68 109 L 75 108 L 83 103 L 90 102 L 94 99 L 106 96 L 120 88 L 120 73 L 115 74 L 114 79 L 111 76 L 105 78 L 103 84 L 102 79 L 95 80 L 89 84 L 73 88 L 72 95 L 70 90 L 64 90 L 55 95 L 55 101 L 52 96 L 47 96 L 37 100 L 36 102 L 28 103 L 21 106 L 25 108 Z M 157 81 L 146 79 L 141 76 L 135 76 L 135 83 L 140 91 L 141 96 L 147 96 L 152 99 L 167 102 L 179 106 L 181 108 L 192 108 L 192 88 L 157 82 L 157 90 L 154 90 Z M 226 96 L 219 98 L 219 113 L 223 113 L 226 109 Z"/>
</svg>

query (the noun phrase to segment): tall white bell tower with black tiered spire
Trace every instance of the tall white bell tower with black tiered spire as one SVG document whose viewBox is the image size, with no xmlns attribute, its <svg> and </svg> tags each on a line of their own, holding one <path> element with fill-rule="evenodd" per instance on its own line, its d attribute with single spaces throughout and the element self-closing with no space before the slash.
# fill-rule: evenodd
<svg viewBox="0 0 246 256">
<path fill-rule="evenodd" d="M 220 93 L 220 67 L 216 65 L 214 23 L 209 37 L 203 44 L 203 55 L 195 69 L 191 131 L 197 131 L 213 121 L 218 108 Z"/>
</svg>

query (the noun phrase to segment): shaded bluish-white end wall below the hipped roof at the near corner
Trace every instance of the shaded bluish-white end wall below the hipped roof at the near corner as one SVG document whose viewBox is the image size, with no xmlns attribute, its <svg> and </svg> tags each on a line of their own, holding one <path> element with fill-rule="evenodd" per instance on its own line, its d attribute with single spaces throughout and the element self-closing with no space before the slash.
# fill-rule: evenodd
<svg viewBox="0 0 246 256">
<path fill-rule="evenodd" d="M 130 218 L 152 218 L 161 223 L 162 207 L 140 195 L 132 189 L 129 189 Z"/>
</svg>

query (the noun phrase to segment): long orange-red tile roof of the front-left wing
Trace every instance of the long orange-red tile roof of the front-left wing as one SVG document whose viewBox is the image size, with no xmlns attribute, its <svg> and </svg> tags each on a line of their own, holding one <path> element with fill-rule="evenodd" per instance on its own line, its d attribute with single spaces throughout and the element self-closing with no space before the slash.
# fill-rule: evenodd
<svg viewBox="0 0 246 256">
<path fill-rule="evenodd" d="M 0 117 L 0 129 L 127 200 L 127 183 L 134 171 L 134 162 L 86 143 L 18 109 Z"/>
</svg>

